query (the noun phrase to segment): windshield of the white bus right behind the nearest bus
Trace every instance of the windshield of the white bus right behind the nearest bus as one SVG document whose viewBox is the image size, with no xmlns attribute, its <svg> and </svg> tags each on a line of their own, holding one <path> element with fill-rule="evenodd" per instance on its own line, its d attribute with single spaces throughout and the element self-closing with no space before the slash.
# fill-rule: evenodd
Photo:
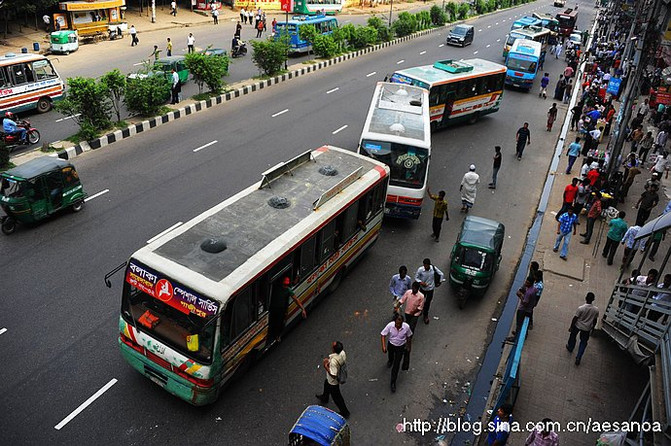
<svg viewBox="0 0 671 446">
<path fill-rule="evenodd" d="M 361 153 L 389 166 L 389 184 L 421 189 L 426 179 L 429 151 L 394 142 L 361 141 Z"/>
</svg>

